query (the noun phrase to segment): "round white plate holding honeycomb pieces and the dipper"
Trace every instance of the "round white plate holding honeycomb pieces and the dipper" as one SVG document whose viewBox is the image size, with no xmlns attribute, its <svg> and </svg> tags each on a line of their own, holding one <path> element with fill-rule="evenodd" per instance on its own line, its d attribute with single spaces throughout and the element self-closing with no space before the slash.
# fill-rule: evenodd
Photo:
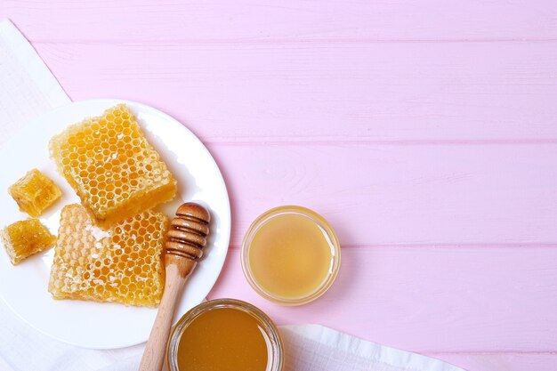
<svg viewBox="0 0 557 371">
<path fill-rule="evenodd" d="M 79 101 L 55 109 L 21 129 L 0 151 L 0 228 L 28 218 L 27 214 L 20 213 L 7 188 L 28 170 L 37 168 L 62 190 L 61 200 L 40 218 L 57 234 L 62 206 L 78 203 L 79 198 L 49 158 L 48 141 L 68 125 L 85 117 L 99 116 L 117 103 L 125 103 L 133 111 L 149 143 L 178 181 L 176 199 L 162 210 L 171 216 L 184 200 L 196 201 L 211 213 L 211 234 L 205 256 L 188 279 L 177 305 L 175 318 L 178 319 L 203 301 L 222 270 L 230 240 L 230 203 L 221 172 L 205 146 L 185 126 L 157 109 L 133 101 Z M 12 311 L 43 334 L 85 348 L 120 348 L 147 340 L 156 309 L 53 300 L 47 291 L 53 254 L 51 249 L 14 267 L 4 247 L 0 248 L 0 296 Z"/>
</svg>

